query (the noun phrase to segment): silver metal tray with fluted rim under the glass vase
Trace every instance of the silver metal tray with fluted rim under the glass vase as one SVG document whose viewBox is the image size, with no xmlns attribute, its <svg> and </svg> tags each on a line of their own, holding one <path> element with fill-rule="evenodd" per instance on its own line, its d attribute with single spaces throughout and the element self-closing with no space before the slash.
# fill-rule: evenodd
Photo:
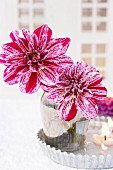
<svg viewBox="0 0 113 170">
<path fill-rule="evenodd" d="M 102 124 L 106 121 L 107 117 L 103 116 L 91 121 L 84 149 L 75 152 L 61 152 L 47 145 L 42 130 L 38 132 L 38 141 L 44 154 L 61 165 L 79 169 L 113 168 L 113 146 L 102 150 L 101 146 L 93 142 L 93 135 L 100 132 Z"/>
</svg>

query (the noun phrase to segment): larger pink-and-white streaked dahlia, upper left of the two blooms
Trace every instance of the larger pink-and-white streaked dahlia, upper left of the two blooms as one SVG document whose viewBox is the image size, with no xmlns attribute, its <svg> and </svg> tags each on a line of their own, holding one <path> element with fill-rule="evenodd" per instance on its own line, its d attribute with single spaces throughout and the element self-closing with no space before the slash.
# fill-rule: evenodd
<svg viewBox="0 0 113 170">
<path fill-rule="evenodd" d="M 34 93 L 41 83 L 51 84 L 55 81 L 57 68 L 72 63 L 65 56 L 69 46 L 69 38 L 52 38 L 52 31 L 47 25 L 30 33 L 22 29 L 10 34 L 11 42 L 2 46 L 0 63 L 6 66 L 4 81 L 10 85 L 19 83 L 20 90 L 25 93 Z"/>
</svg>

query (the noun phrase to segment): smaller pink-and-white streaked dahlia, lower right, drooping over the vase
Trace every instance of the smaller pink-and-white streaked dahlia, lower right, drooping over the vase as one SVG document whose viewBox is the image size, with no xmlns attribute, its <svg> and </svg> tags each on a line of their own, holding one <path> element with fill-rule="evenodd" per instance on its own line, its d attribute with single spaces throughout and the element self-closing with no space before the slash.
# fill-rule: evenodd
<svg viewBox="0 0 113 170">
<path fill-rule="evenodd" d="M 106 97 L 107 90 L 101 84 L 102 75 L 84 62 L 77 62 L 62 70 L 48 98 L 58 104 L 58 116 L 69 121 L 77 110 L 86 119 L 98 114 L 97 102 Z"/>
</svg>

